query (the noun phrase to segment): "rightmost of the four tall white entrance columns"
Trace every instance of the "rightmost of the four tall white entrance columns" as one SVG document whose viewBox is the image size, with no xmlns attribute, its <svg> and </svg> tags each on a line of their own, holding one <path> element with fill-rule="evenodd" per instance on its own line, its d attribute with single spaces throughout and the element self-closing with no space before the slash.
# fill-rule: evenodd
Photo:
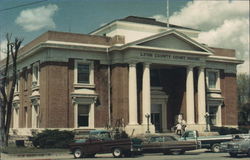
<svg viewBox="0 0 250 160">
<path fill-rule="evenodd" d="M 204 67 L 199 68 L 198 73 L 198 124 L 206 124 L 206 93 Z"/>
</svg>

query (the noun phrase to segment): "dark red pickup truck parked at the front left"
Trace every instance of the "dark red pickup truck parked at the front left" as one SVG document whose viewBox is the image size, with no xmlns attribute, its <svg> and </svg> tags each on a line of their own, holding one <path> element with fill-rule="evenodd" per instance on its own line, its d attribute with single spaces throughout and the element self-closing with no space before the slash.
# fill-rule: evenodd
<svg viewBox="0 0 250 160">
<path fill-rule="evenodd" d="M 97 153 L 112 153 L 114 157 L 130 156 L 142 151 L 142 141 L 136 138 L 114 139 L 109 131 L 92 131 L 89 138 L 69 144 L 75 158 L 94 157 Z"/>
</svg>

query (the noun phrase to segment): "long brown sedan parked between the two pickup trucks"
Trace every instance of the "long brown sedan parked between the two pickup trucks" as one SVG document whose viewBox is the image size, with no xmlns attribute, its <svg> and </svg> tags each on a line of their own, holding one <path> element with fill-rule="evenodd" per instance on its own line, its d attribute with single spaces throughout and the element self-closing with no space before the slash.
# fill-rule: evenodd
<svg viewBox="0 0 250 160">
<path fill-rule="evenodd" d="M 174 136 L 151 136 L 142 143 L 143 153 L 184 154 L 200 148 L 198 141 L 182 141 Z"/>
</svg>

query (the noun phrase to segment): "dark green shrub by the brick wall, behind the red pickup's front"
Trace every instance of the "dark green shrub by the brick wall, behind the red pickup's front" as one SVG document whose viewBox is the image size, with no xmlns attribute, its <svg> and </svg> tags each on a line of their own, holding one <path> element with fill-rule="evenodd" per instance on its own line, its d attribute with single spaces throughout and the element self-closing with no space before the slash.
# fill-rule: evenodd
<svg viewBox="0 0 250 160">
<path fill-rule="evenodd" d="M 32 137 L 32 143 L 40 148 L 67 148 L 73 138 L 72 131 L 44 130 Z"/>
</svg>

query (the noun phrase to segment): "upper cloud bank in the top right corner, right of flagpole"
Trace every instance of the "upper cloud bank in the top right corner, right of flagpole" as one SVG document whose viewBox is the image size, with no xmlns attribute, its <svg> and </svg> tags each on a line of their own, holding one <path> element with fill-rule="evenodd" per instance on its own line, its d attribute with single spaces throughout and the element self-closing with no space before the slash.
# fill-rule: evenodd
<svg viewBox="0 0 250 160">
<path fill-rule="evenodd" d="M 170 17 L 170 22 L 209 30 L 220 26 L 227 19 L 248 18 L 249 1 L 200 1 L 189 2 L 180 12 Z"/>
</svg>

